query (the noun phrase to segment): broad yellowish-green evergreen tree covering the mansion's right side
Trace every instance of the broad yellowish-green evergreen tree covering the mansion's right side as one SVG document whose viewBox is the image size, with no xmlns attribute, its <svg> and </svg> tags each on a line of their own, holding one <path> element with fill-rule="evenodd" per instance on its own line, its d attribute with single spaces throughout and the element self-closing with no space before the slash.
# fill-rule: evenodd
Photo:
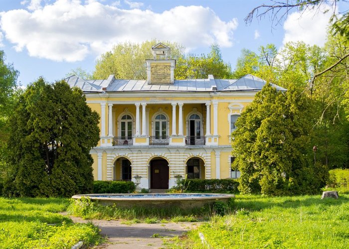
<svg viewBox="0 0 349 249">
<path fill-rule="evenodd" d="M 237 120 L 232 133 L 234 167 L 242 193 L 315 193 L 326 170 L 311 161 L 312 114 L 309 99 L 290 87 L 277 92 L 266 84 Z"/>
</svg>

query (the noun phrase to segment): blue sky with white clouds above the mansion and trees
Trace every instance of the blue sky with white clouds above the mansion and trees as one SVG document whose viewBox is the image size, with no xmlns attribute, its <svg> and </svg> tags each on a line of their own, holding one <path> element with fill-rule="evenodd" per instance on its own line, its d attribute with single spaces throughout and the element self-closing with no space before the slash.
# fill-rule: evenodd
<svg viewBox="0 0 349 249">
<path fill-rule="evenodd" d="M 25 86 L 39 76 L 60 80 L 77 67 L 93 71 L 101 53 L 124 41 L 171 40 L 196 54 L 207 53 L 216 42 L 233 68 L 243 48 L 325 43 L 331 11 L 293 11 L 280 25 L 272 26 L 268 16 L 246 25 L 248 12 L 263 3 L 271 1 L 0 0 L 0 49 Z"/>
</svg>

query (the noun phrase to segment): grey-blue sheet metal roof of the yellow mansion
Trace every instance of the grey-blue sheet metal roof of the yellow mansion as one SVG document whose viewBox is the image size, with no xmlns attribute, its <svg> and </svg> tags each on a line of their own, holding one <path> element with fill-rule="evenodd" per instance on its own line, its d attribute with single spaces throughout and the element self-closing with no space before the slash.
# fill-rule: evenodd
<svg viewBox="0 0 349 249">
<path fill-rule="evenodd" d="M 232 92 L 260 91 L 266 84 L 251 74 L 240 79 L 208 79 L 175 80 L 174 84 L 148 84 L 147 80 L 117 80 L 110 75 L 107 80 L 83 80 L 75 75 L 65 79 L 71 87 L 79 87 L 84 92 Z M 285 88 L 271 84 L 279 91 Z M 216 88 L 216 90 L 215 90 Z"/>
</svg>

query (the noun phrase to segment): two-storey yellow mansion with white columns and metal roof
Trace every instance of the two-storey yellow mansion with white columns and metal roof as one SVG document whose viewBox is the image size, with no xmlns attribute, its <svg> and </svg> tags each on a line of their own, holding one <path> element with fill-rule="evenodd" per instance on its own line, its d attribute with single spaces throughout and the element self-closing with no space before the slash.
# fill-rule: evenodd
<svg viewBox="0 0 349 249">
<path fill-rule="evenodd" d="M 266 82 L 252 75 L 174 80 L 170 48 L 159 43 L 153 54 L 146 61 L 147 80 L 66 79 L 83 90 L 100 115 L 100 141 L 91 149 L 95 180 L 133 180 L 140 188 L 168 189 L 180 176 L 238 177 L 230 166 L 230 134 Z"/>
</svg>

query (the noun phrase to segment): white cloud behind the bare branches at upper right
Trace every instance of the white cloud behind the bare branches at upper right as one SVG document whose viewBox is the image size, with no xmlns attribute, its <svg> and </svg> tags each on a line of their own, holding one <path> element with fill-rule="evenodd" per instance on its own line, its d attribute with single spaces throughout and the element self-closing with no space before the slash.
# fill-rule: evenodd
<svg viewBox="0 0 349 249">
<path fill-rule="evenodd" d="M 325 8 L 331 9 L 331 6 L 326 5 Z M 324 45 L 329 20 L 333 13 L 331 10 L 324 13 L 325 8 L 318 12 L 309 9 L 302 13 L 290 14 L 284 23 L 283 44 L 289 41 L 303 41 L 310 45 Z"/>
</svg>

